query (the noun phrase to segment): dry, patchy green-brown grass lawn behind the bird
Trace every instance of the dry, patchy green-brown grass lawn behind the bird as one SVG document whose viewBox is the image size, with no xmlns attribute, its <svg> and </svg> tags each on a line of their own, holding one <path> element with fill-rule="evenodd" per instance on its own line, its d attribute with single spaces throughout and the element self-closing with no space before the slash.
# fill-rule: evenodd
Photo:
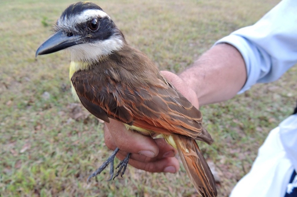
<svg viewBox="0 0 297 197">
<path fill-rule="evenodd" d="M 94 1 L 127 41 L 162 70 L 181 72 L 233 30 L 251 25 L 277 4 L 269 1 Z M 0 196 L 198 196 L 183 168 L 151 174 L 128 167 L 107 182 L 88 175 L 107 158 L 102 124 L 75 104 L 64 53 L 35 51 L 73 1 L 0 1 Z M 292 113 L 297 68 L 270 84 L 255 85 L 229 101 L 203 106 L 212 146 L 201 143 L 228 196 L 246 174 L 268 132 Z"/>
</svg>

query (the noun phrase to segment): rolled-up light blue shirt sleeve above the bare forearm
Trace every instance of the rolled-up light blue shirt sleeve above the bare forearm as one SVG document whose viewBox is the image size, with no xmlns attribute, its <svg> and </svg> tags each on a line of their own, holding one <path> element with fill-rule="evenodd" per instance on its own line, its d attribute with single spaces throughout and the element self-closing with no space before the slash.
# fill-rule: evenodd
<svg viewBox="0 0 297 197">
<path fill-rule="evenodd" d="M 283 0 L 252 26 L 220 39 L 241 53 L 247 81 L 241 91 L 255 83 L 277 80 L 297 63 L 297 1 Z M 297 79 L 295 79 L 297 81 Z"/>
</svg>

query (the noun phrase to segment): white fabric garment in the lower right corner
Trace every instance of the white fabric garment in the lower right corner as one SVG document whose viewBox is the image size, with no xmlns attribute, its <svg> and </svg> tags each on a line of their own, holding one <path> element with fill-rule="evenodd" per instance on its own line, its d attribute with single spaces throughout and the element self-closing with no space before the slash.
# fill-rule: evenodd
<svg viewBox="0 0 297 197">
<path fill-rule="evenodd" d="M 283 134 L 285 133 L 285 136 Z M 231 197 L 283 197 L 293 172 L 293 163 L 287 152 L 296 159 L 297 115 L 291 115 L 268 134 L 259 148 L 250 172 L 233 188 Z M 294 143 L 283 146 L 282 137 Z M 293 137 L 293 138 L 291 138 Z M 289 140 L 287 139 L 289 138 Z M 286 144 L 287 145 L 287 144 Z M 295 168 L 296 169 L 296 168 Z"/>
</svg>

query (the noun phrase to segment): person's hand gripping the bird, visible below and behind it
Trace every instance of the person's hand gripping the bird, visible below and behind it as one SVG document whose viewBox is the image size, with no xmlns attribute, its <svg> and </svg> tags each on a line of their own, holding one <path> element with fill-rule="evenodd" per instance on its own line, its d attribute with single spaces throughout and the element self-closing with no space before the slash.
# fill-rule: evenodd
<svg viewBox="0 0 297 197">
<path fill-rule="evenodd" d="M 172 83 L 192 104 L 198 108 L 198 99 L 195 92 L 172 72 L 162 71 L 165 78 Z M 106 146 L 114 150 L 120 149 L 116 156 L 123 160 L 128 153 L 132 153 L 129 164 L 135 168 L 148 172 L 175 173 L 179 169 L 179 162 L 174 157 L 176 149 L 170 146 L 163 138 L 153 139 L 138 132 L 127 130 L 116 120 L 105 123 L 104 137 Z"/>
</svg>

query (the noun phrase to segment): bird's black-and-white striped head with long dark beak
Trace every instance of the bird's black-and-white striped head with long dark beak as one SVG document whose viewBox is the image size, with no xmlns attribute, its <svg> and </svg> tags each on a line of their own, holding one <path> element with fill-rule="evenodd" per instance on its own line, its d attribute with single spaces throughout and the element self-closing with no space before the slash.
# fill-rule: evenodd
<svg viewBox="0 0 297 197">
<path fill-rule="evenodd" d="M 72 60 L 94 62 L 120 50 L 125 43 L 124 35 L 110 17 L 90 2 L 70 5 L 53 30 L 54 34 L 37 49 L 36 56 L 66 49 Z"/>
</svg>

